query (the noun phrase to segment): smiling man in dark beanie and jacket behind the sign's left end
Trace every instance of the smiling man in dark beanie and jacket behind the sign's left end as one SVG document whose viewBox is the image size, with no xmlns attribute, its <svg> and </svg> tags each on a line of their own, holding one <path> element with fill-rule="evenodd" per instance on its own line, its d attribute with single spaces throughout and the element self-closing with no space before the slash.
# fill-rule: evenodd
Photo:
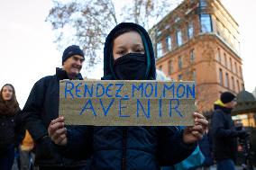
<svg viewBox="0 0 256 170">
<path fill-rule="evenodd" d="M 62 68 L 57 67 L 55 75 L 45 76 L 37 81 L 25 103 L 25 125 L 35 141 L 35 165 L 40 170 L 86 169 L 86 160 L 63 157 L 51 143 L 47 130 L 50 121 L 59 117 L 59 80 L 82 80 L 80 70 L 84 60 L 82 49 L 76 45 L 69 46 L 62 55 Z"/>
</svg>

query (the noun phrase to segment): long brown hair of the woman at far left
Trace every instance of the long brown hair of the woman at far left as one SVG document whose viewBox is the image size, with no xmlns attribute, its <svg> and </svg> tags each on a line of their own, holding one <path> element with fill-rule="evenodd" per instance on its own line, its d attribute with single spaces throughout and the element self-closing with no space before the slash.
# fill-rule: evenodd
<svg viewBox="0 0 256 170">
<path fill-rule="evenodd" d="M 9 101 L 5 101 L 3 99 L 3 89 L 7 85 L 11 86 L 13 89 L 13 95 L 12 95 L 11 100 L 9 100 Z M 20 110 L 21 109 L 19 107 L 19 103 L 17 102 L 17 99 L 16 99 L 14 85 L 5 84 L 1 88 L 1 93 L 0 93 L 0 114 L 15 114 L 15 113 L 19 112 Z"/>
</svg>

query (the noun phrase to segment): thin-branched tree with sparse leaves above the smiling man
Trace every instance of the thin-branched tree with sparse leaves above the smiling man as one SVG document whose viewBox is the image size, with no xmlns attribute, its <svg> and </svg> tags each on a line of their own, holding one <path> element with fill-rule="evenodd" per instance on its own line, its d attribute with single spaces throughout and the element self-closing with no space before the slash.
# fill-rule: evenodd
<svg viewBox="0 0 256 170">
<path fill-rule="evenodd" d="M 84 49 L 86 70 L 99 62 L 105 37 L 119 21 L 136 22 L 149 29 L 158 22 L 157 17 L 169 12 L 170 5 L 166 0 L 133 0 L 132 4 L 123 4 L 121 13 L 116 13 L 112 0 L 53 3 L 46 21 L 55 31 L 55 42 L 60 50 L 71 44 Z"/>
</svg>

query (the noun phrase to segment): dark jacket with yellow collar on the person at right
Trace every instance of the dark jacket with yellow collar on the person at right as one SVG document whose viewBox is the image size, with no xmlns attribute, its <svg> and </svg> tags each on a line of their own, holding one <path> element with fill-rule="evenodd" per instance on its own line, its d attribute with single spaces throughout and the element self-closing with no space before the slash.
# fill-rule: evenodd
<svg viewBox="0 0 256 170">
<path fill-rule="evenodd" d="M 232 158 L 235 161 L 237 153 L 237 137 L 243 131 L 235 130 L 231 117 L 231 109 L 224 107 L 221 101 L 215 103 L 212 116 L 211 132 L 213 138 L 214 157 L 218 160 Z"/>
</svg>

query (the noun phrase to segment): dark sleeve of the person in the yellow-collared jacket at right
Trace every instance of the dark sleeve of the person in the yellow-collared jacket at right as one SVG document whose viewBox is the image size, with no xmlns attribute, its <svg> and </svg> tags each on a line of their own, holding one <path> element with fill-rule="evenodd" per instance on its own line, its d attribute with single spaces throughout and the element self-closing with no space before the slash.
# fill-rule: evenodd
<svg viewBox="0 0 256 170">
<path fill-rule="evenodd" d="M 227 129 L 227 119 L 224 117 L 222 112 L 215 112 L 212 117 L 212 134 L 215 138 L 235 138 L 241 135 L 241 131 Z"/>
</svg>

